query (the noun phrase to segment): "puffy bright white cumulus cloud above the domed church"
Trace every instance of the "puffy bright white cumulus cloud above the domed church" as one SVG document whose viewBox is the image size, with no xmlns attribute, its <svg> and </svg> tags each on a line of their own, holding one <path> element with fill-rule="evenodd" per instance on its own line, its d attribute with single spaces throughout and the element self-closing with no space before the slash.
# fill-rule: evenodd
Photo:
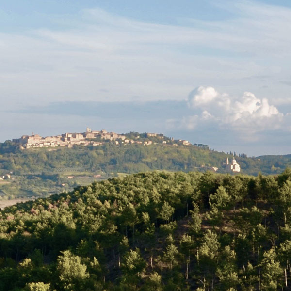
<svg viewBox="0 0 291 291">
<path fill-rule="evenodd" d="M 259 99 L 251 92 L 242 97 L 220 94 L 213 87 L 200 86 L 194 89 L 187 99 L 193 115 L 183 117 L 181 128 L 218 127 L 219 129 L 238 129 L 245 134 L 278 129 L 284 115 L 266 98 Z"/>
</svg>

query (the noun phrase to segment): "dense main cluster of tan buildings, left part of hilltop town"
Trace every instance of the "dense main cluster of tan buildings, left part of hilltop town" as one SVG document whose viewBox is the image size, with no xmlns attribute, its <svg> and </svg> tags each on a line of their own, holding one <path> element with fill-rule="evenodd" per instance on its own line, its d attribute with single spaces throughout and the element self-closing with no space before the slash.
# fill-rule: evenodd
<svg viewBox="0 0 291 291">
<path fill-rule="evenodd" d="M 94 139 L 99 139 L 100 141 L 94 141 Z M 85 132 L 66 132 L 61 135 L 47 137 L 42 137 L 38 134 L 23 135 L 20 138 L 13 139 L 12 141 L 19 144 L 21 148 L 33 148 L 54 146 L 72 147 L 73 145 L 99 146 L 104 143 L 102 140 L 114 141 L 117 139 L 125 141 L 126 137 L 123 134 L 118 134 L 115 132 L 108 132 L 106 130 L 91 130 L 87 128 Z"/>
</svg>

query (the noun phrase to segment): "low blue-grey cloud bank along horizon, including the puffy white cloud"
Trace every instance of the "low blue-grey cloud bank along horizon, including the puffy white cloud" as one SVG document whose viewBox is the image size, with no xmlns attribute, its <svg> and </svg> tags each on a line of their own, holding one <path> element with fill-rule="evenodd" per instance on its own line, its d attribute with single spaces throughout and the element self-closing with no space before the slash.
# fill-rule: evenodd
<svg viewBox="0 0 291 291">
<path fill-rule="evenodd" d="M 290 153 L 290 114 L 254 94 L 236 97 L 213 87 L 199 88 L 181 101 L 70 101 L 27 106 L 1 113 L 3 124 L 17 120 L 17 127 L 6 123 L 2 131 L 11 139 L 31 131 L 46 136 L 90 126 L 116 132 L 160 132 L 248 155 Z"/>
</svg>

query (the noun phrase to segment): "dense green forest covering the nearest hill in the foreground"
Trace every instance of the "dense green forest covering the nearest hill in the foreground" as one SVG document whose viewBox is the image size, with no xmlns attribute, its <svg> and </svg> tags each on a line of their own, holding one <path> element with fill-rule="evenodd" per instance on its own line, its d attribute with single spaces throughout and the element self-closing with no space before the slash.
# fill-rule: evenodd
<svg viewBox="0 0 291 291">
<path fill-rule="evenodd" d="M 291 170 L 146 172 L 0 211 L 0 290 L 291 289 Z"/>
</svg>

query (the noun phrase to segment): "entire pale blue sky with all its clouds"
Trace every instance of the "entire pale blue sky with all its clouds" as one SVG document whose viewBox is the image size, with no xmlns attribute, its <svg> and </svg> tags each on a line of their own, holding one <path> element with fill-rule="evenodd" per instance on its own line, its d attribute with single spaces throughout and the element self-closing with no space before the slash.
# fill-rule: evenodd
<svg viewBox="0 0 291 291">
<path fill-rule="evenodd" d="M 107 129 L 291 153 L 291 2 L 0 0 L 0 141 Z"/>
</svg>

